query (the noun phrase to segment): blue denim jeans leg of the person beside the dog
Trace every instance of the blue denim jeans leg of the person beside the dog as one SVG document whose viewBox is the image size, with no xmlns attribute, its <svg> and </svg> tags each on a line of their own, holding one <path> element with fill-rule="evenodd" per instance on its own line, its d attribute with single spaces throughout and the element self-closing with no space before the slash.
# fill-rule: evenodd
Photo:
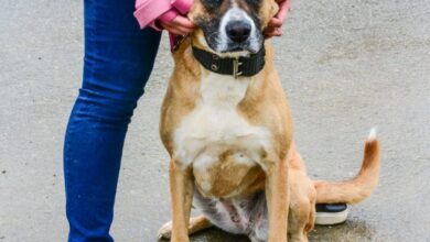
<svg viewBox="0 0 430 242">
<path fill-rule="evenodd" d="M 127 128 L 152 70 L 160 33 L 139 30 L 135 0 L 85 0 L 83 85 L 64 144 L 68 241 L 114 241 Z"/>
</svg>

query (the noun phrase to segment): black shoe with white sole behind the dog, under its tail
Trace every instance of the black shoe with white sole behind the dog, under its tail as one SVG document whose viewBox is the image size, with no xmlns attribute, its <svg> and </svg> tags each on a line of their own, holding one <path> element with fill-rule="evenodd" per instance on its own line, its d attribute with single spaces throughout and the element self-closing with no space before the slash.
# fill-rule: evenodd
<svg viewBox="0 0 430 242">
<path fill-rule="evenodd" d="M 346 221 L 348 207 L 345 204 L 316 205 L 315 224 L 334 226 Z"/>
</svg>

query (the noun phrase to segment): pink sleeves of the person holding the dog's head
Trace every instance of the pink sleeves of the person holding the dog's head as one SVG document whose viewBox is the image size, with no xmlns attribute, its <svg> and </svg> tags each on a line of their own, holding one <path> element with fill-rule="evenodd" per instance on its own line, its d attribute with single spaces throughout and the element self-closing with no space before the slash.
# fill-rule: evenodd
<svg viewBox="0 0 430 242">
<path fill-rule="evenodd" d="M 280 10 L 277 18 L 283 21 L 287 12 L 290 9 L 290 0 L 279 1 Z M 141 29 L 151 26 L 158 31 L 161 29 L 157 25 L 157 20 L 170 22 L 179 14 L 185 15 L 193 0 L 136 0 L 135 16 Z M 173 47 L 179 40 L 179 36 L 170 33 L 170 44 Z"/>
</svg>

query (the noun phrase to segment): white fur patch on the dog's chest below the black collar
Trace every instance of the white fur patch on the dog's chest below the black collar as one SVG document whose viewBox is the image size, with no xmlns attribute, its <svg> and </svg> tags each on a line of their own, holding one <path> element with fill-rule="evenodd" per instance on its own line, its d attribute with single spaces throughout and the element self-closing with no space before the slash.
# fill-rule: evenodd
<svg viewBox="0 0 430 242">
<path fill-rule="evenodd" d="M 237 163 L 252 166 L 259 162 L 259 152 L 268 145 L 270 134 L 237 112 L 249 81 L 214 73 L 202 80 L 201 99 L 174 134 L 175 158 L 182 165 L 205 170 L 227 150 L 234 151 Z M 209 189 L 207 186 L 202 188 Z"/>
</svg>

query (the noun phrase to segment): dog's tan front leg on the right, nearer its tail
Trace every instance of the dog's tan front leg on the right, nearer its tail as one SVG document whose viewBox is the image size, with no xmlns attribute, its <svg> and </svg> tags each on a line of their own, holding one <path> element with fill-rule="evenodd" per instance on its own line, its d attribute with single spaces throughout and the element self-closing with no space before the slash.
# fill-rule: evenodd
<svg viewBox="0 0 430 242">
<path fill-rule="evenodd" d="M 286 242 L 288 229 L 289 189 L 288 163 L 266 163 L 266 198 L 269 211 L 269 242 Z"/>
</svg>

